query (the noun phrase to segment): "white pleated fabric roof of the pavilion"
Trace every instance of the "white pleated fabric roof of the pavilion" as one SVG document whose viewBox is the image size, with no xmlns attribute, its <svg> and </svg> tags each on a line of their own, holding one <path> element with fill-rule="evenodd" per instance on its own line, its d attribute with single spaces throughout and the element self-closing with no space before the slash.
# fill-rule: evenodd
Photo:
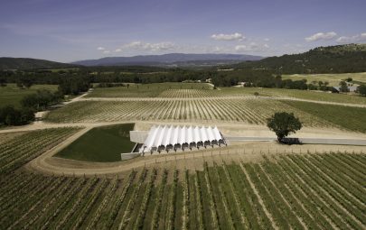
<svg viewBox="0 0 366 230">
<path fill-rule="evenodd" d="M 159 146 L 183 144 L 183 143 L 204 143 L 222 140 L 219 129 L 215 127 L 199 126 L 153 126 L 145 139 L 141 151 L 151 151 Z"/>
</svg>

